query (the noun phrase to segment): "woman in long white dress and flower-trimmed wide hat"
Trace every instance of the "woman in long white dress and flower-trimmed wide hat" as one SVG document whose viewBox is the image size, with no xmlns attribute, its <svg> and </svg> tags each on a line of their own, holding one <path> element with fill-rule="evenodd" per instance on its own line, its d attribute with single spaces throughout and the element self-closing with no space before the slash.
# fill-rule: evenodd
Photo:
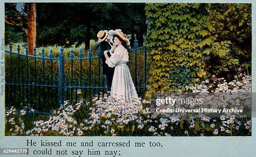
<svg viewBox="0 0 256 157">
<path fill-rule="evenodd" d="M 120 30 L 111 30 L 109 34 L 110 36 L 113 35 L 115 45 L 110 50 L 110 57 L 107 55 L 108 51 L 104 52 L 105 62 L 109 67 L 115 67 L 110 97 L 124 98 L 125 100 L 138 99 L 130 70 L 126 64 L 129 59 L 126 48 L 129 47 L 130 42 Z"/>
</svg>

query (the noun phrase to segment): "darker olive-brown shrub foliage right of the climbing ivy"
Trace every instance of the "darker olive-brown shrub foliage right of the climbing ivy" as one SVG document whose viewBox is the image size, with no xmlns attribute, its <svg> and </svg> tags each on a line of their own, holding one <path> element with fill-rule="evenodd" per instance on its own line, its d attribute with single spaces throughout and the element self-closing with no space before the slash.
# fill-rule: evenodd
<svg viewBox="0 0 256 157">
<path fill-rule="evenodd" d="M 226 46 L 229 41 L 230 52 L 226 55 L 212 53 L 212 71 L 226 71 L 232 76 L 234 66 L 251 66 L 251 4 L 214 3 L 207 5 L 207 12 L 215 28 L 216 42 Z"/>
</svg>

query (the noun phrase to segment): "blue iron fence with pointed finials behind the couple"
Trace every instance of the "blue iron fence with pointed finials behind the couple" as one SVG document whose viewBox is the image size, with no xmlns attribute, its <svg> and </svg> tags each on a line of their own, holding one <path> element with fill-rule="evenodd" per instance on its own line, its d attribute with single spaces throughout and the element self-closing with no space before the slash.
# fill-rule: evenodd
<svg viewBox="0 0 256 157">
<path fill-rule="evenodd" d="M 77 103 L 79 99 L 91 101 L 92 96 L 99 96 L 107 89 L 101 59 L 98 56 L 92 57 L 91 49 L 88 50 L 87 57 L 83 57 L 80 48 L 77 58 L 74 58 L 71 48 L 69 58 L 64 58 L 64 49 L 60 47 L 59 57 L 54 58 L 51 48 L 48 57 L 45 56 L 44 47 L 41 48 L 40 56 L 37 55 L 36 48 L 33 49 L 33 56 L 28 55 L 27 46 L 24 54 L 20 53 L 19 45 L 17 52 L 13 52 L 12 48 L 10 44 L 9 50 L 5 50 L 6 106 L 29 106 L 38 111 L 49 111 L 64 104 L 64 100 L 70 100 L 71 103 Z M 141 49 L 144 50 L 143 79 L 138 78 L 137 69 L 137 53 Z M 98 48 L 97 51 L 99 50 Z M 133 82 L 138 95 L 142 96 L 146 89 L 146 48 L 138 47 L 135 40 L 134 48 L 129 52 L 134 55 Z"/>
</svg>

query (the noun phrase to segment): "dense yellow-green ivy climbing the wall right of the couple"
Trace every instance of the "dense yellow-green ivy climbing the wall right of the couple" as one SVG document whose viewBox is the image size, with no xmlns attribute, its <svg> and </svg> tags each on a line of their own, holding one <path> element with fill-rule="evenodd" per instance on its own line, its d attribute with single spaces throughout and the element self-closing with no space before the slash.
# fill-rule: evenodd
<svg viewBox="0 0 256 157">
<path fill-rule="evenodd" d="M 148 25 L 146 46 L 151 51 L 151 92 L 173 91 L 184 87 L 197 78 L 206 78 L 203 73 L 212 45 L 210 20 L 205 4 L 147 4 Z M 171 73 L 177 68 L 190 69 L 186 76 Z M 183 82 L 172 77 L 183 77 Z M 191 77 L 191 78 L 189 78 Z M 191 86 L 191 85 L 190 85 Z"/>
</svg>

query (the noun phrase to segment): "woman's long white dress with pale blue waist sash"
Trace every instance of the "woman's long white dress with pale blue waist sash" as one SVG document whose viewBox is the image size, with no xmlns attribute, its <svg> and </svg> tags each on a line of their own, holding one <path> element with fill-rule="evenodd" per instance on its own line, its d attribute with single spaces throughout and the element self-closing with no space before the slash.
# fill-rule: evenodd
<svg viewBox="0 0 256 157">
<path fill-rule="evenodd" d="M 112 56 L 106 60 L 109 67 L 115 67 L 110 97 L 124 99 L 138 99 L 130 70 L 127 66 L 129 61 L 128 51 L 118 46 Z"/>
</svg>

